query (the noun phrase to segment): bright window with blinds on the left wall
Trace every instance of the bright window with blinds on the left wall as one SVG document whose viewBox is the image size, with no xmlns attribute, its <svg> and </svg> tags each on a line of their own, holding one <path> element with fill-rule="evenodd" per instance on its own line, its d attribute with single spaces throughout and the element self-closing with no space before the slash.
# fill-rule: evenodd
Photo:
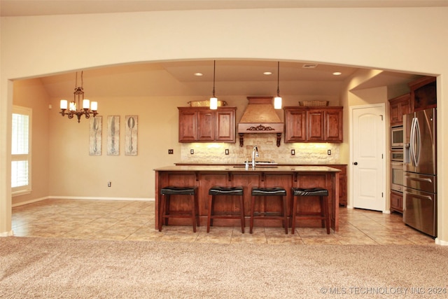
<svg viewBox="0 0 448 299">
<path fill-rule="evenodd" d="M 31 192 L 31 109 L 13 106 L 11 138 L 11 188 L 13 195 Z"/>
</svg>

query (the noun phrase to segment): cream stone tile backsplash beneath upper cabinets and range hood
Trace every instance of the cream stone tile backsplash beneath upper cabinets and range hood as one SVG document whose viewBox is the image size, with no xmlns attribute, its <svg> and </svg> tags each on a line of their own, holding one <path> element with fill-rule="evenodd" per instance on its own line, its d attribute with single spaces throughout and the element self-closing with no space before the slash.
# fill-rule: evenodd
<svg viewBox="0 0 448 299">
<path fill-rule="evenodd" d="M 181 162 L 239 164 L 251 160 L 253 146 L 258 147 L 258 161 L 274 161 L 280 164 L 337 164 L 339 163 L 339 144 L 332 143 L 296 143 L 285 144 L 283 139 L 276 146 L 275 134 L 245 134 L 244 146 L 225 143 L 181 144 Z M 190 151 L 193 149 L 193 154 Z M 229 154 L 225 155 L 225 150 Z M 291 155 L 291 150 L 295 155 Z M 328 150 L 331 155 L 328 155 Z"/>
</svg>

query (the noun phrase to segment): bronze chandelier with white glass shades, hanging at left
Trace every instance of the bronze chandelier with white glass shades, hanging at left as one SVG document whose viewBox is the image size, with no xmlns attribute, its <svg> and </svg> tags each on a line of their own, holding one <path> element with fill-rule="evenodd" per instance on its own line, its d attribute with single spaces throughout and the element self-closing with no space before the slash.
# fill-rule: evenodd
<svg viewBox="0 0 448 299">
<path fill-rule="evenodd" d="M 83 108 L 80 107 L 80 102 L 83 101 Z M 67 116 L 68 118 L 73 118 L 76 116 L 78 118 L 78 123 L 80 122 L 81 116 L 85 116 L 85 118 L 90 118 L 90 114 L 93 114 L 93 117 L 97 116 L 98 110 L 98 102 L 92 102 L 88 99 L 84 99 L 84 90 L 83 90 L 83 72 L 81 71 L 81 85 L 78 86 L 78 72 L 76 72 L 75 78 L 75 92 L 73 92 L 73 101 L 68 103 L 66 99 L 61 99 L 60 103 L 61 115 Z M 68 111 L 66 111 L 68 109 Z"/>
</svg>

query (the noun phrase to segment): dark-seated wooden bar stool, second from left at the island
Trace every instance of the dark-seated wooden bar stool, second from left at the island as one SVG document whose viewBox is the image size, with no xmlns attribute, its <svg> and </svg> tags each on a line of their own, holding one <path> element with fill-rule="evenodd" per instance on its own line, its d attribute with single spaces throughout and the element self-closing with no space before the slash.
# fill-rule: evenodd
<svg viewBox="0 0 448 299">
<path fill-rule="evenodd" d="M 223 214 L 215 215 L 214 206 L 216 196 L 239 196 L 239 213 L 235 214 L 231 211 Z M 207 232 L 210 232 L 210 225 L 213 226 L 214 218 L 241 219 L 241 232 L 244 233 L 244 196 L 243 187 L 221 187 L 213 186 L 209 189 L 209 216 L 207 218 Z"/>
</svg>

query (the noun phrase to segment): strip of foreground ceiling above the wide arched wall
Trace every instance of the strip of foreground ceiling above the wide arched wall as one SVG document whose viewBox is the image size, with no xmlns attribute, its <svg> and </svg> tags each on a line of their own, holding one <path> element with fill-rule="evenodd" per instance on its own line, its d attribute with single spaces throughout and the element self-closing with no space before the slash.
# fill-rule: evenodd
<svg viewBox="0 0 448 299">
<path fill-rule="evenodd" d="M 448 6 L 447 0 L 0 0 L 1 16 L 252 8 Z"/>
</svg>

